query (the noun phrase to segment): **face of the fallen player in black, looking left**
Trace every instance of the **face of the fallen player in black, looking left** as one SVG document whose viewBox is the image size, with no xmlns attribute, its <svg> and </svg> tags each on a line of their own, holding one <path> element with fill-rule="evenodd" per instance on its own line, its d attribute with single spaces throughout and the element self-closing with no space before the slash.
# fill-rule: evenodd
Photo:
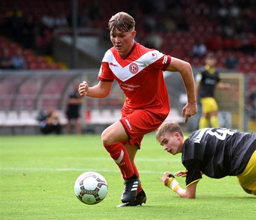
<svg viewBox="0 0 256 220">
<path fill-rule="evenodd" d="M 183 136 L 181 136 L 178 132 L 167 132 L 160 137 L 160 145 L 163 146 L 164 150 L 170 154 L 176 155 L 182 152 Z"/>
</svg>

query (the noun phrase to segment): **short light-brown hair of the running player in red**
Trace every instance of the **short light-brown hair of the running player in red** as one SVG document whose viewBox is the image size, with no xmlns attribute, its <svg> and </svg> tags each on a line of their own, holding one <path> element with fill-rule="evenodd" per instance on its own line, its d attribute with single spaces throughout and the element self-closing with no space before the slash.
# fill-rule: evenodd
<svg viewBox="0 0 256 220">
<path fill-rule="evenodd" d="M 135 21 L 133 17 L 123 11 L 116 13 L 116 15 L 113 15 L 109 20 L 110 32 L 116 29 L 120 32 L 129 32 L 134 27 Z"/>
</svg>

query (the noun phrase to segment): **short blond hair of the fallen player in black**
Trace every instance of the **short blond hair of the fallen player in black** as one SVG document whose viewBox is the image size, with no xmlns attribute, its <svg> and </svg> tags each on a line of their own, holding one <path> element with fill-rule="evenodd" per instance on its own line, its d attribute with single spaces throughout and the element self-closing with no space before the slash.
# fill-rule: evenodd
<svg viewBox="0 0 256 220">
<path fill-rule="evenodd" d="M 165 133 L 178 132 L 181 136 L 184 136 L 183 131 L 181 130 L 179 123 L 177 121 L 167 121 L 160 125 L 156 132 L 157 141 L 160 141 L 161 136 Z"/>
</svg>

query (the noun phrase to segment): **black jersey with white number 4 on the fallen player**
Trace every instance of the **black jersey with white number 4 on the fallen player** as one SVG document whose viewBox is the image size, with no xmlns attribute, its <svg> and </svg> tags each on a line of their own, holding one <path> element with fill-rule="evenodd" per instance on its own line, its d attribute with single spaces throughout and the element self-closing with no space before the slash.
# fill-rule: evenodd
<svg viewBox="0 0 256 220">
<path fill-rule="evenodd" d="M 256 134 L 226 128 L 193 132 L 185 140 L 182 153 L 186 186 L 200 180 L 201 172 L 212 178 L 241 174 L 254 150 Z"/>
</svg>

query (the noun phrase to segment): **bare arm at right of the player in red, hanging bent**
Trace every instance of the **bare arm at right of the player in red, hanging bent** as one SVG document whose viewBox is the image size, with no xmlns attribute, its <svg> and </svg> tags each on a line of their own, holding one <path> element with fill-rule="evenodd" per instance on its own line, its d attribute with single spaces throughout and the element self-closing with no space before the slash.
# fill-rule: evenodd
<svg viewBox="0 0 256 220">
<path fill-rule="evenodd" d="M 187 122 L 190 116 L 197 113 L 196 86 L 191 65 L 184 60 L 172 57 L 166 70 L 181 74 L 187 92 L 187 104 L 183 108 L 182 116 L 185 116 L 185 122 Z"/>
</svg>

